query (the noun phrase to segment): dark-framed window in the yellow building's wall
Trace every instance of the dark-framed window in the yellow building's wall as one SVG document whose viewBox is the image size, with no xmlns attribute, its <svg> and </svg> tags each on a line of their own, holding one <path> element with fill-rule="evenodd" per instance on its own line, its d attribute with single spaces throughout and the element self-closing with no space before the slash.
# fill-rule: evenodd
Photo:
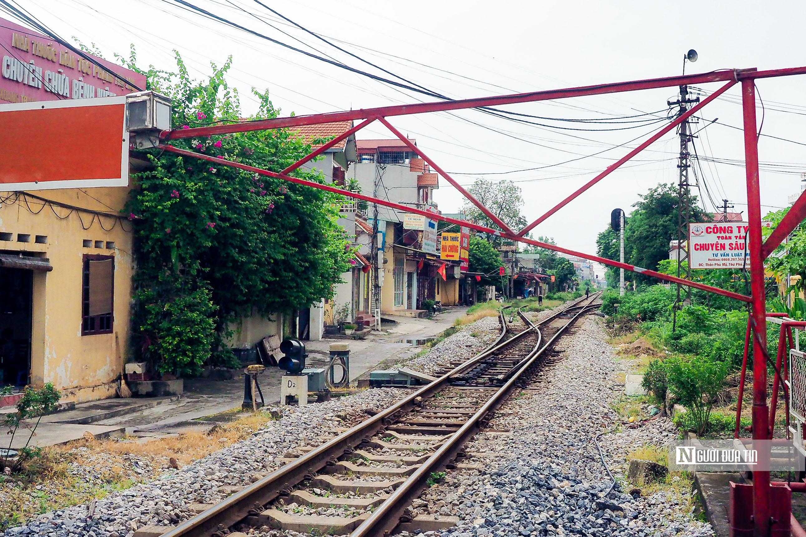
<svg viewBox="0 0 806 537">
<path fill-rule="evenodd" d="M 114 257 L 85 255 L 82 277 L 81 335 L 112 333 Z"/>
</svg>

